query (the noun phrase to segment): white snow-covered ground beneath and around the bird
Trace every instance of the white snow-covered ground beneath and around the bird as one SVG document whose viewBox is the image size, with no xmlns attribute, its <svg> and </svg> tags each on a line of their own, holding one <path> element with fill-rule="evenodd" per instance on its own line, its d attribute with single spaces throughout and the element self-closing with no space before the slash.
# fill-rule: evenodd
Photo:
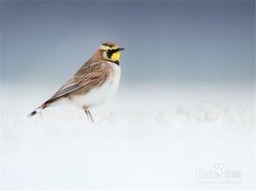
<svg viewBox="0 0 256 191">
<path fill-rule="evenodd" d="M 3 189 L 255 188 L 253 86 L 122 85 L 97 124 L 69 105 L 26 118 L 56 88 L 3 85 Z M 200 176 L 215 164 L 238 176 Z"/>
</svg>

